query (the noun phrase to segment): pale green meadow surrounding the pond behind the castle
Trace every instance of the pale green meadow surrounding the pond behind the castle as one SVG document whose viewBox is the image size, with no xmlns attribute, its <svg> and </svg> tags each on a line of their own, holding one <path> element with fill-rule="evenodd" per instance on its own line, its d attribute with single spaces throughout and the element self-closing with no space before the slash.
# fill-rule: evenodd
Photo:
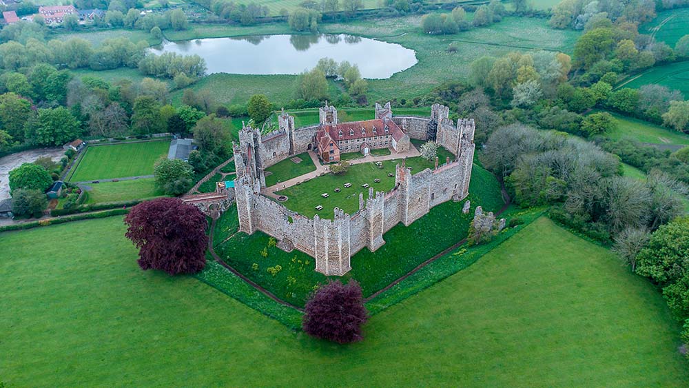
<svg viewBox="0 0 689 388">
<path fill-rule="evenodd" d="M 435 85 L 451 79 L 466 79 L 469 65 L 486 55 L 502 56 L 511 51 L 536 49 L 571 52 L 580 32 L 553 30 L 546 19 L 506 17 L 489 28 L 476 28 L 451 36 L 429 36 L 420 30 L 421 16 L 414 14 L 387 19 L 367 19 L 347 23 L 319 25 L 319 31 L 328 34 L 353 34 L 399 43 L 415 50 L 418 63 L 393 74 L 389 79 L 369 80 L 369 101 L 411 99 L 420 96 Z M 233 25 L 194 25 L 184 32 L 166 32 L 172 40 L 201 39 L 205 37 L 236 37 L 251 34 L 289 34 L 287 24 L 267 25 L 268 30 Z M 457 52 L 447 52 L 453 43 Z M 252 94 L 266 94 L 271 102 L 285 104 L 294 99 L 294 80 L 290 75 L 212 74 L 192 85 L 196 92 L 208 90 L 218 103 L 244 104 Z M 249 85 L 249 87 L 247 87 Z M 330 99 L 340 94 L 333 83 Z M 181 100 L 182 91 L 173 95 L 174 103 Z"/>
</svg>

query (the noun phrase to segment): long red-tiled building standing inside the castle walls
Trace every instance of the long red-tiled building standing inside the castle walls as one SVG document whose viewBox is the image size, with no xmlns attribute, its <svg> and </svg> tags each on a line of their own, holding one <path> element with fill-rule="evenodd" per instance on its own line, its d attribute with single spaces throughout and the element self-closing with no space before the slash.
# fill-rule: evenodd
<svg viewBox="0 0 689 388">
<path fill-rule="evenodd" d="M 338 123 L 333 106 L 320 108 L 320 127 L 316 132 L 318 156 L 325 163 L 340 161 L 340 153 L 361 152 L 391 148 L 394 152 L 409 150 L 409 135 L 402 132 L 389 117 L 365 121 Z"/>
</svg>

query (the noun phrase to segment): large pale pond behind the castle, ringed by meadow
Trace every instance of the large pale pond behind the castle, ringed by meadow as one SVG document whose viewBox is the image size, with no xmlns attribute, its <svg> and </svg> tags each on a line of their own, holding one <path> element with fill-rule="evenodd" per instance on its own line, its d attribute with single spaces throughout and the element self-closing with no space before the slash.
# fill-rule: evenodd
<svg viewBox="0 0 689 388">
<path fill-rule="evenodd" d="M 384 79 L 417 62 L 414 50 L 402 45 L 345 34 L 198 39 L 165 42 L 151 51 L 198 54 L 209 74 L 299 74 L 328 57 L 356 63 L 364 78 Z"/>
</svg>

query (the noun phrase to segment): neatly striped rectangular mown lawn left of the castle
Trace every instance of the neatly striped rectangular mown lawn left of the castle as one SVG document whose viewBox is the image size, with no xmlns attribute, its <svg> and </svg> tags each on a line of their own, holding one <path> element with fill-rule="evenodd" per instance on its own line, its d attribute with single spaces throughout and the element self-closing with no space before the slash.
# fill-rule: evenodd
<svg viewBox="0 0 689 388">
<path fill-rule="evenodd" d="M 70 181 L 151 175 L 156 161 L 167 155 L 169 145 L 169 141 L 145 141 L 89 146 Z"/>
</svg>

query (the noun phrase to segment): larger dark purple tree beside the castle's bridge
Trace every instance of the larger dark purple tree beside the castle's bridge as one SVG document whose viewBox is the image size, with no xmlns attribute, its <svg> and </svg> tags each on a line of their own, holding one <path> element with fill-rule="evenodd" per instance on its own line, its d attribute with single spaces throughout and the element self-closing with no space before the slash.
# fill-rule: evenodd
<svg viewBox="0 0 689 388">
<path fill-rule="evenodd" d="M 194 274 L 206 265 L 206 218 L 194 205 L 178 198 L 139 203 L 125 217 L 127 233 L 138 247 L 141 269 L 170 275 Z"/>
</svg>

